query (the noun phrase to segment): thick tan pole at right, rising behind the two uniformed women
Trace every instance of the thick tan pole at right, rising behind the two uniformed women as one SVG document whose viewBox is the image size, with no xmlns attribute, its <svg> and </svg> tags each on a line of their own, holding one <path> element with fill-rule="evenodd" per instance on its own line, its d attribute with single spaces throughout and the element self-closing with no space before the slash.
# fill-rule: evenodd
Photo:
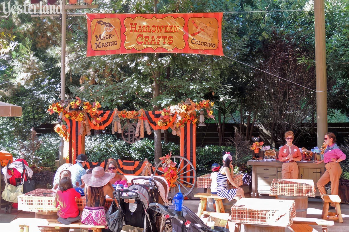
<svg viewBox="0 0 349 232">
<path fill-rule="evenodd" d="M 325 2 L 314 0 L 315 15 L 315 75 L 316 75 L 316 112 L 317 142 L 321 147 L 327 133 L 327 80 L 326 80 L 326 38 Z"/>
</svg>

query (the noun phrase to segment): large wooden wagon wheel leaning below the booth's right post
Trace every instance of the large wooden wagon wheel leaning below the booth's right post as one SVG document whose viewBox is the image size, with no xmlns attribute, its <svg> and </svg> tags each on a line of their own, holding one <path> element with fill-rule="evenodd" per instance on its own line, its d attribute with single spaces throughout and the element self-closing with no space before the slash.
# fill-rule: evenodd
<svg viewBox="0 0 349 232">
<path fill-rule="evenodd" d="M 180 191 L 183 194 L 183 196 L 187 196 L 193 191 L 196 184 L 196 171 L 195 171 L 194 165 L 187 158 L 179 155 L 172 155 L 171 160 L 177 163 L 176 168 L 177 168 L 177 176 L 178 176 L 175 182 L 176 186 L 171 188 L 171 197 L 173 198 L 174 195 L 176 195 L 176 193 L 179 192 L 178 186 L 180 186 Z M 183 167 L 181 167 L 182 164 L 184 164 Z M 189 170 L 187 170 L 187 167 L 189 167 Z M 190 172 L 192 172 L 193 175 L 186 176 L 187 173 L 190 173 Z M 162 163 L 158 163 L 156 165 L 154 174 L 158 176 L 164 175 Z"/>
</svg>

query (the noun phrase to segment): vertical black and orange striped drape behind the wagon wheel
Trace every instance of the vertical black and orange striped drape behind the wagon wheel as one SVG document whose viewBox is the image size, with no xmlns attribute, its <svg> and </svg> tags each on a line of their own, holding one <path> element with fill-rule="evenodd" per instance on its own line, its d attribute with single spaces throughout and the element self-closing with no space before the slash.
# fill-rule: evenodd
<svg viewBox="0 0 349 232">
<path fill-rule="evenodd" d="M 186 123 L 180 130 L 180 156 L 187 158 L 196 168 L 196 124 Z M 181 168 L 183 168 L 187 162 L 183 161 Z M 186 167 L 184 172 L 189 171 L 190 165 Z M 187 172 L 186 176 L 194 176 L 194 172 Z M 193 178 L 187 178 L 187 181 L 193 181 Z"/>
</svg>

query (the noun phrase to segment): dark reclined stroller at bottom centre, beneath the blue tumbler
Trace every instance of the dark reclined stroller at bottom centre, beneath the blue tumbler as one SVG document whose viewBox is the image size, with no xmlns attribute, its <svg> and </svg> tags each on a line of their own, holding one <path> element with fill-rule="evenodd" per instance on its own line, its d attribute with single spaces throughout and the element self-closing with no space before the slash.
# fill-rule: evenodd
<svg viewBox="0 0 349 232">
<path fill-rule="evenodd" d="M 175 211 L 174 205 L 163 206 L 159 203 L 150 203 L 149 209 L 171 218 L 171 232 L 229 232 L 227 228 L 220 226 L 211 229 L 185 206 L 182 206 L 182 211 Z"/>
</svg>

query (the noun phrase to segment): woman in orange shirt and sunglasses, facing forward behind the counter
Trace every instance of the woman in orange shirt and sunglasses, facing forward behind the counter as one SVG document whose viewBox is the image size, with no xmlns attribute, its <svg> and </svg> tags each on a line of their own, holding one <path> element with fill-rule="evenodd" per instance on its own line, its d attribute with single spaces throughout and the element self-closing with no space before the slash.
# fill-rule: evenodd
<svg viewBox="0 0 349 232">
<path fill-rule="evenodd" d="M 283 162 L 281 168 L 282 179 L 298 179 L 298 165 L 296 161 L 302 160 L 299 148 L 292 144 L 294 134 L 292 131 L 285 133 L 286 144 L 280 148 L 279 161 Z"/>
</svg>

